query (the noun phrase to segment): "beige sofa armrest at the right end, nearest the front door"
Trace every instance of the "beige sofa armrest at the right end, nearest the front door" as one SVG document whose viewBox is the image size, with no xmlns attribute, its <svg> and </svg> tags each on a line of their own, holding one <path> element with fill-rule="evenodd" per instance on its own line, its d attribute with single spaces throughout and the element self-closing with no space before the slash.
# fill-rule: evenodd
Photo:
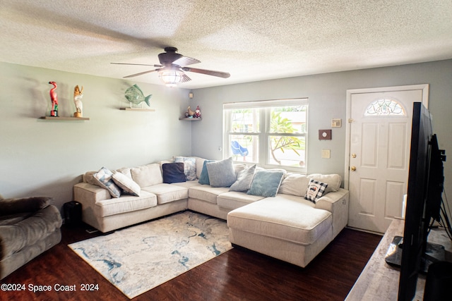
<svg viewBox="0 0 452 301">
<path fill-rule="evenodd" d="M 331 212 L 333 217 L 333 238 L 348 223 L 348 190 L 339 188 L 337 192 L 329 192 L 316 202 L 316 208 Z"/>
</svg>

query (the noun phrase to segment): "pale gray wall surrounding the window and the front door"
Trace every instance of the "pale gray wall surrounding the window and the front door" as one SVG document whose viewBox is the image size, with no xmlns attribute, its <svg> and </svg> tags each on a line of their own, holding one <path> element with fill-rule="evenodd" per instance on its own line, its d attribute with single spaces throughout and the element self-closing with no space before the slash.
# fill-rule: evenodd
<svg viewBox="0 0 452 301">
<path fill-rule="evenodd" d="M 451 157 L 452 60 L 198 89 L 194 91 L 191 104 L 200 106 L 203 120 L 192 125 L 192 154 L 222 158 L 218 147 L 222 147 L 222 104 L 225 102 L 308 97 L 308 173 L 343 176 L 346 91 L 426 83 L 430 85 L 429 110 L 434 117 L 434 132 L 439 136 L 440 147 Z M 319 129 L 331 128 L 331 118 L 342 118 L 343 127 L 333 128 L 331 141 L 319 140 Z M 331 159 L 321 159 L 321 149 L 331 149 Z M 445 164 L 445 187 L 449 193 L 452 193 L 451 161 Z"/>
</svg>

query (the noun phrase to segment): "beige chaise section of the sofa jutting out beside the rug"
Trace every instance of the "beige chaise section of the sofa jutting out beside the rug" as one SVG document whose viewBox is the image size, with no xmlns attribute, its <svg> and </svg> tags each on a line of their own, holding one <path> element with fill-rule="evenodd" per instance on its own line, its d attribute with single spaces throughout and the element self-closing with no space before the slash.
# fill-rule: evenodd
<svg viewBox="0 0 452 301">
<path fill-rule="evenodd" d="M 333 240 L 331 212 L 292 195 L 277 195 L 227 214 L 230 242 L 305 267 Z"/>
</svg>

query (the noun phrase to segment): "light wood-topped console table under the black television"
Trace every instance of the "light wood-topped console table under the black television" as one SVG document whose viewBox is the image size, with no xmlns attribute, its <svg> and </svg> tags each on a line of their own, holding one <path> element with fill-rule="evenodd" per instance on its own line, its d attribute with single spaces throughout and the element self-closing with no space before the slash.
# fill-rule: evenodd
<svg viewBox="0 0 452 301">
<path fill-rule="evenodd" d="M 394 219 L 392 221 L 391 226 L 389 226 L 345 300 L 397 300 L 400 269 L 386 264 L 384 258 L 394 236 L 403 236 L 404 226 L 405 221 L 402 219 Z M 446 260 L 448 262 L 452 261 L 452 242 L 444 229 L 432 229 L 428 241 L 444 245 L 446 248 Z M 423 299 L 424 286 L 425 275 L 419 274 L 416 295 L 413 300 Z"/>
</svg>

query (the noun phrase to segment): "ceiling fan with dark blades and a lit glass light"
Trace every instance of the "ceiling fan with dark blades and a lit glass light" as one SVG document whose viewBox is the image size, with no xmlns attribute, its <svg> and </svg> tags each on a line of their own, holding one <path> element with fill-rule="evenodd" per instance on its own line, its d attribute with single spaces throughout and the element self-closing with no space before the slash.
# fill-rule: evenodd
<svg viewBox="0 0 452 301">
<path fill-rule="evenodd" d="M 198 61 L 197 59 L 191 58 L 189 56 L 183 56 L 182 54 L 178 54 L 176 47 L 165 47 L 165 52 L 159 54 L 158 59 L 160 61 L 160 65 L 148 65 L 144 63 L 114 63 L 114 64 L 156 67 L 157 69 L 127 75 L 124 76 L 124 78 L 133 78 L 138 75 L 143 75 L 151 72 L 158 72 L 159 77 L 169 87 L 177 85 L 178 82 L 189 82 L 191 80 L 191 78 L 189 78 L 184 73 L 184 71 L 213 75 L 219 78 L 230 77 L 230 74 L 227 72 L 186 67 L 194 63 L 201 63 L 201 61 Z"/>
</svg>

